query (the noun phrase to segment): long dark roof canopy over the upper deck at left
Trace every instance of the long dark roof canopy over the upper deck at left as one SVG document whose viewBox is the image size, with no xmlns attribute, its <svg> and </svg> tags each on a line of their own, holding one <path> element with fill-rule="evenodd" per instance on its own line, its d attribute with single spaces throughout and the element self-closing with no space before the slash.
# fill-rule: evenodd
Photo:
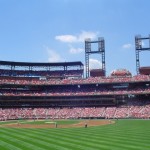
<svg viewBox="0 0 150 150">
<path fill-rule="evenodd" d="M 0 65 L 5 66 L 30 66 L 30 67 L 61 67 L 61 66 L 83 66 L 81 61 L 75 62 L 55 62 L 55 63 L 45 63 L 45 62 L 14 62 L 14 61 L 0 61 Z"/>
</svg>

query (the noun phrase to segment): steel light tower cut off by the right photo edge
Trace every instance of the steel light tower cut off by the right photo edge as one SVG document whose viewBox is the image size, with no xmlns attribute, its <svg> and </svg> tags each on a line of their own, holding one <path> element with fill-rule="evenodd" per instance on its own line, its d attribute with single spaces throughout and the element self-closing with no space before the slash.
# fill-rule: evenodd
<svg viewBox="0 0 150 150">
<path fill-rule="evenodd" d="M 148 44 L 144 46 L 144 41 L 147 41 Z M 150 51 L 150 35 L 148 37 L 141 37 L 141 35 L 135 36 L 135 54 L 136 54 L 136 72 L 139 74 L 140 68 L 140 59 L 139 52 Z"/>
</svg>

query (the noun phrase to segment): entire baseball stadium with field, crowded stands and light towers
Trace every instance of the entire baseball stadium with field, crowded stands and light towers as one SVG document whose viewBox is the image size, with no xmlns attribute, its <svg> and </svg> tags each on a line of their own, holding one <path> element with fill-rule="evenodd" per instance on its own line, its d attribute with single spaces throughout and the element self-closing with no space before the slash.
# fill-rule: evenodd
<svg viewBox="0 0 150 150">
<path fill-rule="evenodd" d="M 0 61 L 0 150 L 149 150 L 143 40 L 150 43 L 135 37 L 134 76 L 127 69 L 106 75 L 104 38 L 85 40 L 85 64 Z M 90 69 L 92 54 L 102 68 Z"/>
</svg>

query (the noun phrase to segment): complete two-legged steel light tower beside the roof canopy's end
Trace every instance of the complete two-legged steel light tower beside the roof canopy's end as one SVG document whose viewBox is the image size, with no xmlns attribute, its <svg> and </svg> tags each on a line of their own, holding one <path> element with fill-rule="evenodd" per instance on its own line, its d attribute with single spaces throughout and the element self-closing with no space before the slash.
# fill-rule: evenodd
<svg viewBox="0 0 150 150">
<path fill-rule="evenodd" d="M 98 49 L 93 50 L 91 48 L 91 44 L 98 44 Z M 102 71 L 104 71 L 104 75 L 106 74 L 105 71 L 105 41 L 103 37 L 99 37 L 98 40 L 91 41 L 90 38 L 85 39 L 85 70 L 86 70 L 86 78 L 89 77 L 90 68 L 89 68 L 89 55 L 90 54 L 101 54 L 102 56 Z"/>
</svg>

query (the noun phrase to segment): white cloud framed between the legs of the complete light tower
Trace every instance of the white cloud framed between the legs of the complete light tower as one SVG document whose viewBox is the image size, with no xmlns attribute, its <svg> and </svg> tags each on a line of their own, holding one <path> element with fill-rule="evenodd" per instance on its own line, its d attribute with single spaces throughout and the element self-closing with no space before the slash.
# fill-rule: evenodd
<svg viewBox="0 0 150 150">
<path fill-rule="evenodd" d="M 100 69 L 102 68 L 102 63 L 101 61 L 97 59 L 89 59 L 89 67 L 90 69 Z"/>
</svg>

